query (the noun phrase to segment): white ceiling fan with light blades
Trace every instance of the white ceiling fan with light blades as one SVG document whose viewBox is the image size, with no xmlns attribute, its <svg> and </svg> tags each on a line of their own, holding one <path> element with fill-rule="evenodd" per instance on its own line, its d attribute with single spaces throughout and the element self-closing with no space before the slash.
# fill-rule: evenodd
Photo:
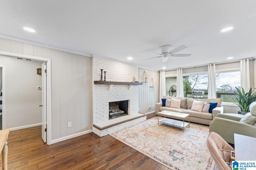
<svg viewBox="0 0 256 170">
<path fill-rule="evenodd" d="M 171 45 L 163 45 L 163 46 L 159 47 L 160 54 L 158 54 L 158 55 L 160 55 L 160 56 L 158 56 L 158 57 L 163 57 L 163 62 L 166 62 L 168 60 L 168 57 L 189 57 L 191 55 L 191 54 L 174 54 L 183 49 L 186 49 L 188 47 L 186 45 L 182 45 L 173 50 L 171 50 L 171 47 L 172 47 Z M 150 59 L 154 59 L 154 58 L 158 58 L 158 57 L 152 57 Z M 149 59 L 145 59 L 145 60 L 149 60 Z"/>
</svg>

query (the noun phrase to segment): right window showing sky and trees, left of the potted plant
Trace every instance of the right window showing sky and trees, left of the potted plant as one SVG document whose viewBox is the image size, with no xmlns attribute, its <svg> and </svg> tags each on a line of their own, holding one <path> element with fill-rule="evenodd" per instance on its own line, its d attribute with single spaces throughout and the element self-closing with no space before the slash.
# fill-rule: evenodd
<svg viewBox="0 0 256 170">
<path fill-rule="evenodd" d="M 234 102 L 235 87 L 241 86 L 240 71 L 216 73 L 216 97 L 222 102 Z"/>
</svg>

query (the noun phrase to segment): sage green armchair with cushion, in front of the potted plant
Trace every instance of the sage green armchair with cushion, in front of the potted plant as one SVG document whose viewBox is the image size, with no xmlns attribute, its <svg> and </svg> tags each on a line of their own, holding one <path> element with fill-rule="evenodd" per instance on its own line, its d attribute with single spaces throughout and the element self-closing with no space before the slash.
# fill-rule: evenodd
<svg viewBox="0 0 256 170">
<path fill-rule="evenodd" d="M 247 113 L 248 114 L 248 113 Z M 246 115 L 247 115 L 246 114 Z M 256 102 L 250 105 L 250 113 L 256 118 Z M 210 123 L 210 132 L 218 133 L 226 142 L 234 144 L 234 133 L 256 137 L 256 123 L 244 123 L 246 115 L 235 113 L 218 114 Z M 240 122 L 243 120 L 243 122 Z M 251 123 L 251 124 L 250 124 Z"/>
</svg>

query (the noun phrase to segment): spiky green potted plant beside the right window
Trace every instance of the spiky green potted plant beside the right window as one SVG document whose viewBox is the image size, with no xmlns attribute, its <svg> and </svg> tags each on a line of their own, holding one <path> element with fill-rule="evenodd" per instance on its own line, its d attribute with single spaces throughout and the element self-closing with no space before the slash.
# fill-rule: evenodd
<svg viewBox="0 0 256 170">
<path fill-rule="evenodd" d="M 236 92 L 234 92 L 236 96 L 236 105 L 239 107 L 240 110 L 238 110 L 238 114 L 246 114 L 248 113 L 249 106 L 252 102 L 256 100 L 256 92 L 252 93 L 252 88 L 250 88 L 249 92 L 244 92 L 244 88 L 240 90 L 239 88 L 236 88 Z"/>
</svg>

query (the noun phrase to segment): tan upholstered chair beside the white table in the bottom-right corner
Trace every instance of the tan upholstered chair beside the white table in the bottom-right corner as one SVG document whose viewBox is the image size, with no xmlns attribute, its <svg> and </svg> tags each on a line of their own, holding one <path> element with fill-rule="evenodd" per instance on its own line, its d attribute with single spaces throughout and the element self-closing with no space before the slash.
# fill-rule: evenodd
<svg viewBox="0 0 256 170">
<path fill-rule="evenodd" d="M 210 132 L 207 139 L 207 147 L 216 163 L 218 170 L 231 170 L 231 150 L 234 149 L 215 132 Z"/>
</svg>

